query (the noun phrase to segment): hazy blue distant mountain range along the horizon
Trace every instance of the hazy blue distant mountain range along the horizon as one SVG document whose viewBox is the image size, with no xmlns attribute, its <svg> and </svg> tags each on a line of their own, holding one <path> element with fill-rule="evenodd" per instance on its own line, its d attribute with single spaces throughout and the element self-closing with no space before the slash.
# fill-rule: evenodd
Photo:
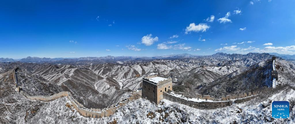
<svg viewBox="0 0 295 124">
<path fill-rule="evenodd" d="M 183 54 L 177 54 L 177 55 L 165 55 L 165 56 L 155 56 L 155 57 L 133 57 L 133 56 L 106 56 L 106 57 L 80 57 L 80 58 L 40 58 L 40 57 L 26 57 L 19 60 L 14 60 L 11 58 L 0 58 L 0 62 L 29 62 L 29 63 L 43 63 L 43 62 L 51 62 L 51 63 L 67 63 L 67 62 L 83 62 L 83 61 L 93 61 L 93 62 L 110 62 L 110 63 L 116 63 L 119 61 L 136 61 L 136 60 L 155 60 L 155 59 L 181 59 L 181 58 L 201 58 L 201 57 L 218 57 L 218 56 L 228 56 L 232 57 L 232 59 L 235 59 L 235 57 L 242 57 L 242 56 L 249 56 L 249 55 L 257 55 L 257 53 L 249 53 L 247 55 L 241 55 L 241 54 L 226 54 L 226 53 L 216 53 L 213 55 L 207 55 L 207 56 L 201 56 L 201 55 L 191 55 L 188 53 Z M 270 55 L 275 55 L 278 57 L 281 57 L 283 59 L 295 59 L 295 55 L 284 55 L 284 54 L 277 54 L 277 53 L 270 53 Z M 222 59 L 222 58 L 219 58 Z"/>
</svg>

